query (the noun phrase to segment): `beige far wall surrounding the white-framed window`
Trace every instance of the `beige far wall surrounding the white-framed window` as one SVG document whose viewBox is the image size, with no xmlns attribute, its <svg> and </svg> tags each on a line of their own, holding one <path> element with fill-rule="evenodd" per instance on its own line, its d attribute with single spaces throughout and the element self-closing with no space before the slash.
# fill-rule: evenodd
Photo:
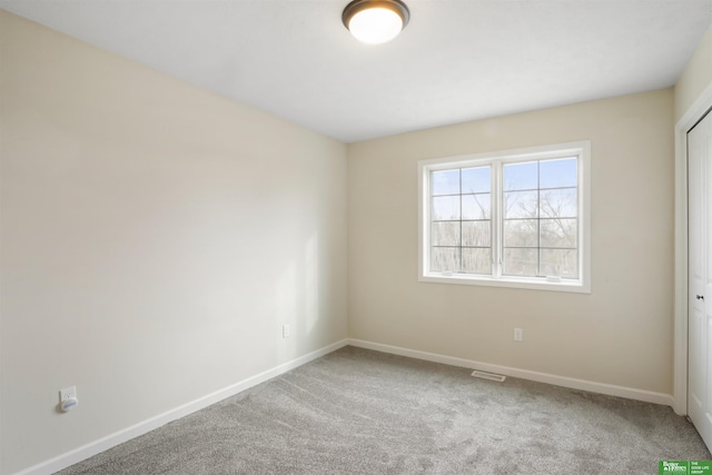
<svg viewBox="0 0 712 475">
<path fill-rule="evenodd" d="M 671 394 L 672 116 L 666 89 L 350 145 L 349 336 Z M 591 295 L 417 281 L 418 160 L 583 139 Z"/>
</svg>

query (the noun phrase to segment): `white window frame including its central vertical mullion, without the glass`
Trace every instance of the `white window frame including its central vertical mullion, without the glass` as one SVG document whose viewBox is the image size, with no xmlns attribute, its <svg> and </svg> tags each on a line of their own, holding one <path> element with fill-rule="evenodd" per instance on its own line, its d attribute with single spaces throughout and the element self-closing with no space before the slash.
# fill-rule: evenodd
<svg viewBox="0 0 712 475">
<path fill-rule="evenodd" d="M 521 277 L 502 275 L 502 253 L 504 243 L 501 216 L 502 169 L 504 165 L 523 161 L 547 160 L 556 158 L 577 158 L 577 253 L 578 279 L 552 279 L 547 277 Z M 431 172 L 456 168 L 491 166 L 491 219 L 493 274 L 451 274 L 431 273 Z M 591 141 L 581 140 L 565 144 L 527 147 L 442 157 L 418 161 L 418 281 L 435 284 L 475 285 L 491 287 L 523 288 L 532 290 L 554 290 L 570 293 L 591 293 Z"/>
</svg>

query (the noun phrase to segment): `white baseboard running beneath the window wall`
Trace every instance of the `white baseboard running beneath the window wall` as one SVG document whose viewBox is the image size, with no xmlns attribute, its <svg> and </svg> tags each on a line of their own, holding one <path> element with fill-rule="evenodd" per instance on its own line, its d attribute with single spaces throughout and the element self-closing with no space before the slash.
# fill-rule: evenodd
<svg viewBox="0 0 712 475">
<path fill-rule="evenodd" d="M 469 369 L 479 369 L 487 373 L 496 373 L 514 378 L 535 380 L 554 386 L 568 387 L 572 389 L 587 390 L 591 393 L 605 394 L 609 396 L 625 397 L 627 399 L 642 400 L 645 403 L 673 405 L 673 397 L 670 394 L 654 393 L 652 390 L 635 389 L 632 387 L 615 386 L 605 383 L 595 383 L 585 379 L 570 378 L 565 376 L 551 375 L 547 373 L 531 372 L 527 369 L 512 368 L 508 366 L 493 365 L 490 363 L 475 362 L 471 359 L 455 358 L 452 356 L 438 355 L 435 353 L 419 352 L 417 349 L 402 348 L 398 346 L 383 345 L 380 343 L 364 342 L 349 338 L 348 344 L 359 348 L 374 349 L 376 352 L 390 353 L 393 355 L 407 356 L 426 362 L 443 363 L 451 366 L 459 366 Z"/>
</svg>

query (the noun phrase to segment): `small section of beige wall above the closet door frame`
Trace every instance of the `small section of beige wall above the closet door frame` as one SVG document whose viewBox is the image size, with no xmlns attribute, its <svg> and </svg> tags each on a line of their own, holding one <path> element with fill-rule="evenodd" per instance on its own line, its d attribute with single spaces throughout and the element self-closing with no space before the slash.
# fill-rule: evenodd
<svg viewBox="0 0 712 475">
<path fill-rule="evenodd" d="M 675 122 L 712 86 L 712 26 L 700 41 L 675 85 Z"/>
</svg>

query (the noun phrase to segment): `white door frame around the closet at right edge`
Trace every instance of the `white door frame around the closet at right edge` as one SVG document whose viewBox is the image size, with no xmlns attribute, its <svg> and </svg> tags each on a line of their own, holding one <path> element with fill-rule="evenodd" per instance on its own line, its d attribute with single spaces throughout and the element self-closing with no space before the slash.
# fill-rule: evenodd
<svg viewBox="0 0 712 475">
<path fill-rule="evenodd" d="M 712 83 L 675 123 L 673 410 L 688 414 L 688 131 L 712 108 Z"/>
</svg>

